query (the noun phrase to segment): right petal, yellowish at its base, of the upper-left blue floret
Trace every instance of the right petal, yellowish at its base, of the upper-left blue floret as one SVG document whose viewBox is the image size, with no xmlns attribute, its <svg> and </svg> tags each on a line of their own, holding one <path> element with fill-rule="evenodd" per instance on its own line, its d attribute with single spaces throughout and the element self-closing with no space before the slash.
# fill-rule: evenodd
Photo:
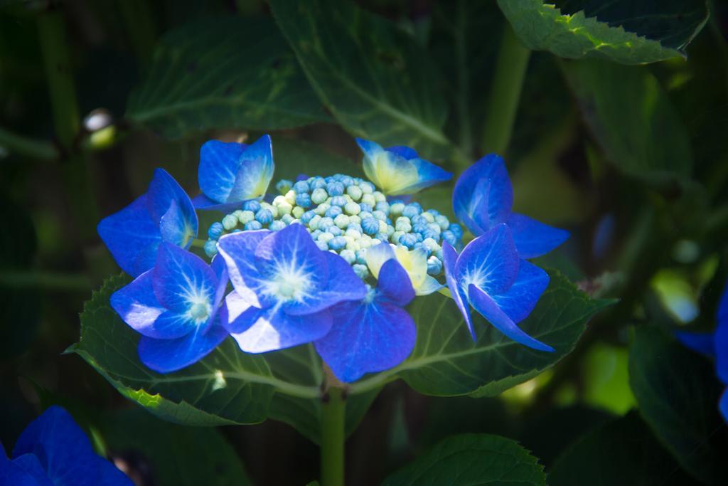
<svg viewBox="0 0 728 486">
<path fill-rule="evenodd" d="M 273 149 L 270 136 L 264 135 L 240 155 L 240 166 L 227 203 L 263 197 L 273 177 Z"/>
</svg>

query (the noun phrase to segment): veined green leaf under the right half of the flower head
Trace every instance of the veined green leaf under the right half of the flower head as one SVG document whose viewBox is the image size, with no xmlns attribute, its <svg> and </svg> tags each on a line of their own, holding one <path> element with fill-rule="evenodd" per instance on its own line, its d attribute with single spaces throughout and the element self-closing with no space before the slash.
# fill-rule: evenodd
<svg viewBox="0 0 728 486">
<path fill-rule="evenodd" d="M 415 299 L 410 313 L 417 324 L 411 356 L 379 375 L 352 384 L 351 393 L 402 378 L 427 395 L 495 396 L 539 375 L 576 345 L 587 320 L 612 300 L 590 299 L 560 273 L 551 282 L 521 329 L 555 348 L 554 353 L 526 348 L 498 332 L 473 313 L 473 342 L 454 301 L 441 294 Z"/>
</svg>

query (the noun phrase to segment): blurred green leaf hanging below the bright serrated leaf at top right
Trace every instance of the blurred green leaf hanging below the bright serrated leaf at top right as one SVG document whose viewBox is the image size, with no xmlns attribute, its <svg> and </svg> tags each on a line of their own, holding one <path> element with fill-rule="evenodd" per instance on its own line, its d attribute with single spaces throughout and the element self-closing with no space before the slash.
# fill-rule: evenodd
<svg viewBox="0 0 728 486">
<path fill-rule="evenodd" d="M 620 171 L 658 181 L 690 176 L 687 130 L 646 68 L 603 61 L 563 68 L 587 125 Z"/>
</svg>

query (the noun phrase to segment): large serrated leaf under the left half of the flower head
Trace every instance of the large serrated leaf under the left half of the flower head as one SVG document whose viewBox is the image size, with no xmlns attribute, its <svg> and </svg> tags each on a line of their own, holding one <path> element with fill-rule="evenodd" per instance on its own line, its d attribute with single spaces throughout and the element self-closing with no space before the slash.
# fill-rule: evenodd
<svg viewBox="0 0 728 486">
<path fill-rule="evenodd" d="M 175 423 L 218 426 L 274 418 L 318 442 L 323 372 L 311 345 L 254 355 L 229 338 L 197 364 L 160 375 L 139 361 L 138 333 L 108 305 L 111 294 L 128 282 L 124 276 L 110 278 L 95 292 L 81 315 L 81 340 L 69 348 L 122 395 Z M 349 433 L 379 388 L 349 397 Z"/>
</svg>

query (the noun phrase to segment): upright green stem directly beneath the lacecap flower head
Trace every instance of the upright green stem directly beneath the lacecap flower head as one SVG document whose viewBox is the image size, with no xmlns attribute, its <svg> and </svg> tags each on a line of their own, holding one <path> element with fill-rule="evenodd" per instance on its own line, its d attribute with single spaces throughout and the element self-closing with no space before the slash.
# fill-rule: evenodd
<svg viewBox="0 0 728 486">
<path fill-rule="evenodd" d="M 321 407 L 321 485 L 344 485 L 346 401 L 342 388 L 329 388 Z"/>
</svg>

